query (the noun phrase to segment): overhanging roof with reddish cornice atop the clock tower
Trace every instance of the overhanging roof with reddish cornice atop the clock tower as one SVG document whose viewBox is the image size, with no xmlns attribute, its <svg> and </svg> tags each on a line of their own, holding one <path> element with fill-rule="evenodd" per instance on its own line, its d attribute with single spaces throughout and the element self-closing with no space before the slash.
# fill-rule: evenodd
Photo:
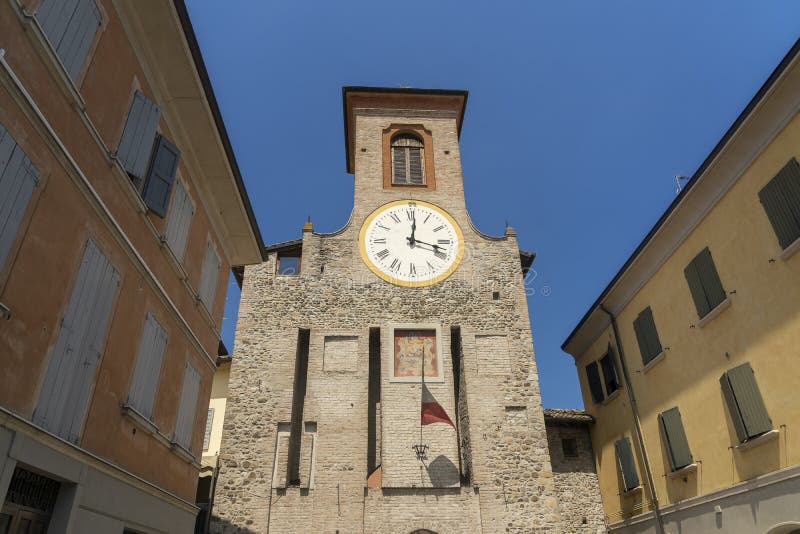
<svg viewBox="0 0 800 534">
<path fill-rule="evenodd" d="M 412 109 L 454 111 L 461 136 L 461 123 L 467 107 L 468 91 L 454 89 L 414 89 L 407 87 L 342 87 L 344 108 L 344 145 L 347 157 L 347 172 L 353 173 L 353 152 L 355 150 L 356 108 L 371 109 Z"/>
</svg>

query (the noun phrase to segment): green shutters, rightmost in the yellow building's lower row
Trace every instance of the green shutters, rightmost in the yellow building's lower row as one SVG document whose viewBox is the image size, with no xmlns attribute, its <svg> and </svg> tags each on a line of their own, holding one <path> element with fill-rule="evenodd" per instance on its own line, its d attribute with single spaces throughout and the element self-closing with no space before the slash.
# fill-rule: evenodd
<svg viewBox="0 0 800 534">
<path fill-rule="evenodd" d="M 740 443 L 772 430 L 772 420 L 749 363 L 726 371 L 720 384 Z"/>
</svg>

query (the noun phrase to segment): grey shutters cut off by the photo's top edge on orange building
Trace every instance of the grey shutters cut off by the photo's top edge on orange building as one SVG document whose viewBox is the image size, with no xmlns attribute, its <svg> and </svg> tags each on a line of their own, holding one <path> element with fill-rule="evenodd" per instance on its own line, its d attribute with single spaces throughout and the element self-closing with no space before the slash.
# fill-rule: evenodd
<svg viewBox="0 0 800 534">
<path fill-rule="evenodd" d="M 70 78 L 77 80 L 103 21 L 95 0 L 42 0 L 36 19 Z"/>
</svg>

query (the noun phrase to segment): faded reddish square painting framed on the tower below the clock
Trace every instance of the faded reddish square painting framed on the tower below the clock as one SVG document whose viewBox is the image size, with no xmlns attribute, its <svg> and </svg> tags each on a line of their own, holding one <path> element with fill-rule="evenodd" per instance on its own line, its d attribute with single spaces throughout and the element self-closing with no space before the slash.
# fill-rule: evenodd
<svg viewBox="0 0 800 534">
<path fill-rule="evenodd" d="M 418 381 L 425 354 L 425 380 L 441 379 L 436 330 L 395 330 L 393 378 Z"/>
</svg>

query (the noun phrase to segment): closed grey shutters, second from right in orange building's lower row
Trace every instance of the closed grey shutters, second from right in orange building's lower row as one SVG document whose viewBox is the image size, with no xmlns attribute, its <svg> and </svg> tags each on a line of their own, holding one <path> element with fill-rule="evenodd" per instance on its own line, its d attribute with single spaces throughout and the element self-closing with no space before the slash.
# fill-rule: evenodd
<svg viewBox="0 0 800 534">
<path fill-rule="evenodd" d="M 139 353 L 136 356 L 136 367 L 133 371 L 133 380 L 131 380 L 128 404 L 151 420 L 166 347 L 167 333 L 158 324 L 155 317 L 148 313 L 144 322 L 142 339 L 139 342 Z"/>
</svg>

